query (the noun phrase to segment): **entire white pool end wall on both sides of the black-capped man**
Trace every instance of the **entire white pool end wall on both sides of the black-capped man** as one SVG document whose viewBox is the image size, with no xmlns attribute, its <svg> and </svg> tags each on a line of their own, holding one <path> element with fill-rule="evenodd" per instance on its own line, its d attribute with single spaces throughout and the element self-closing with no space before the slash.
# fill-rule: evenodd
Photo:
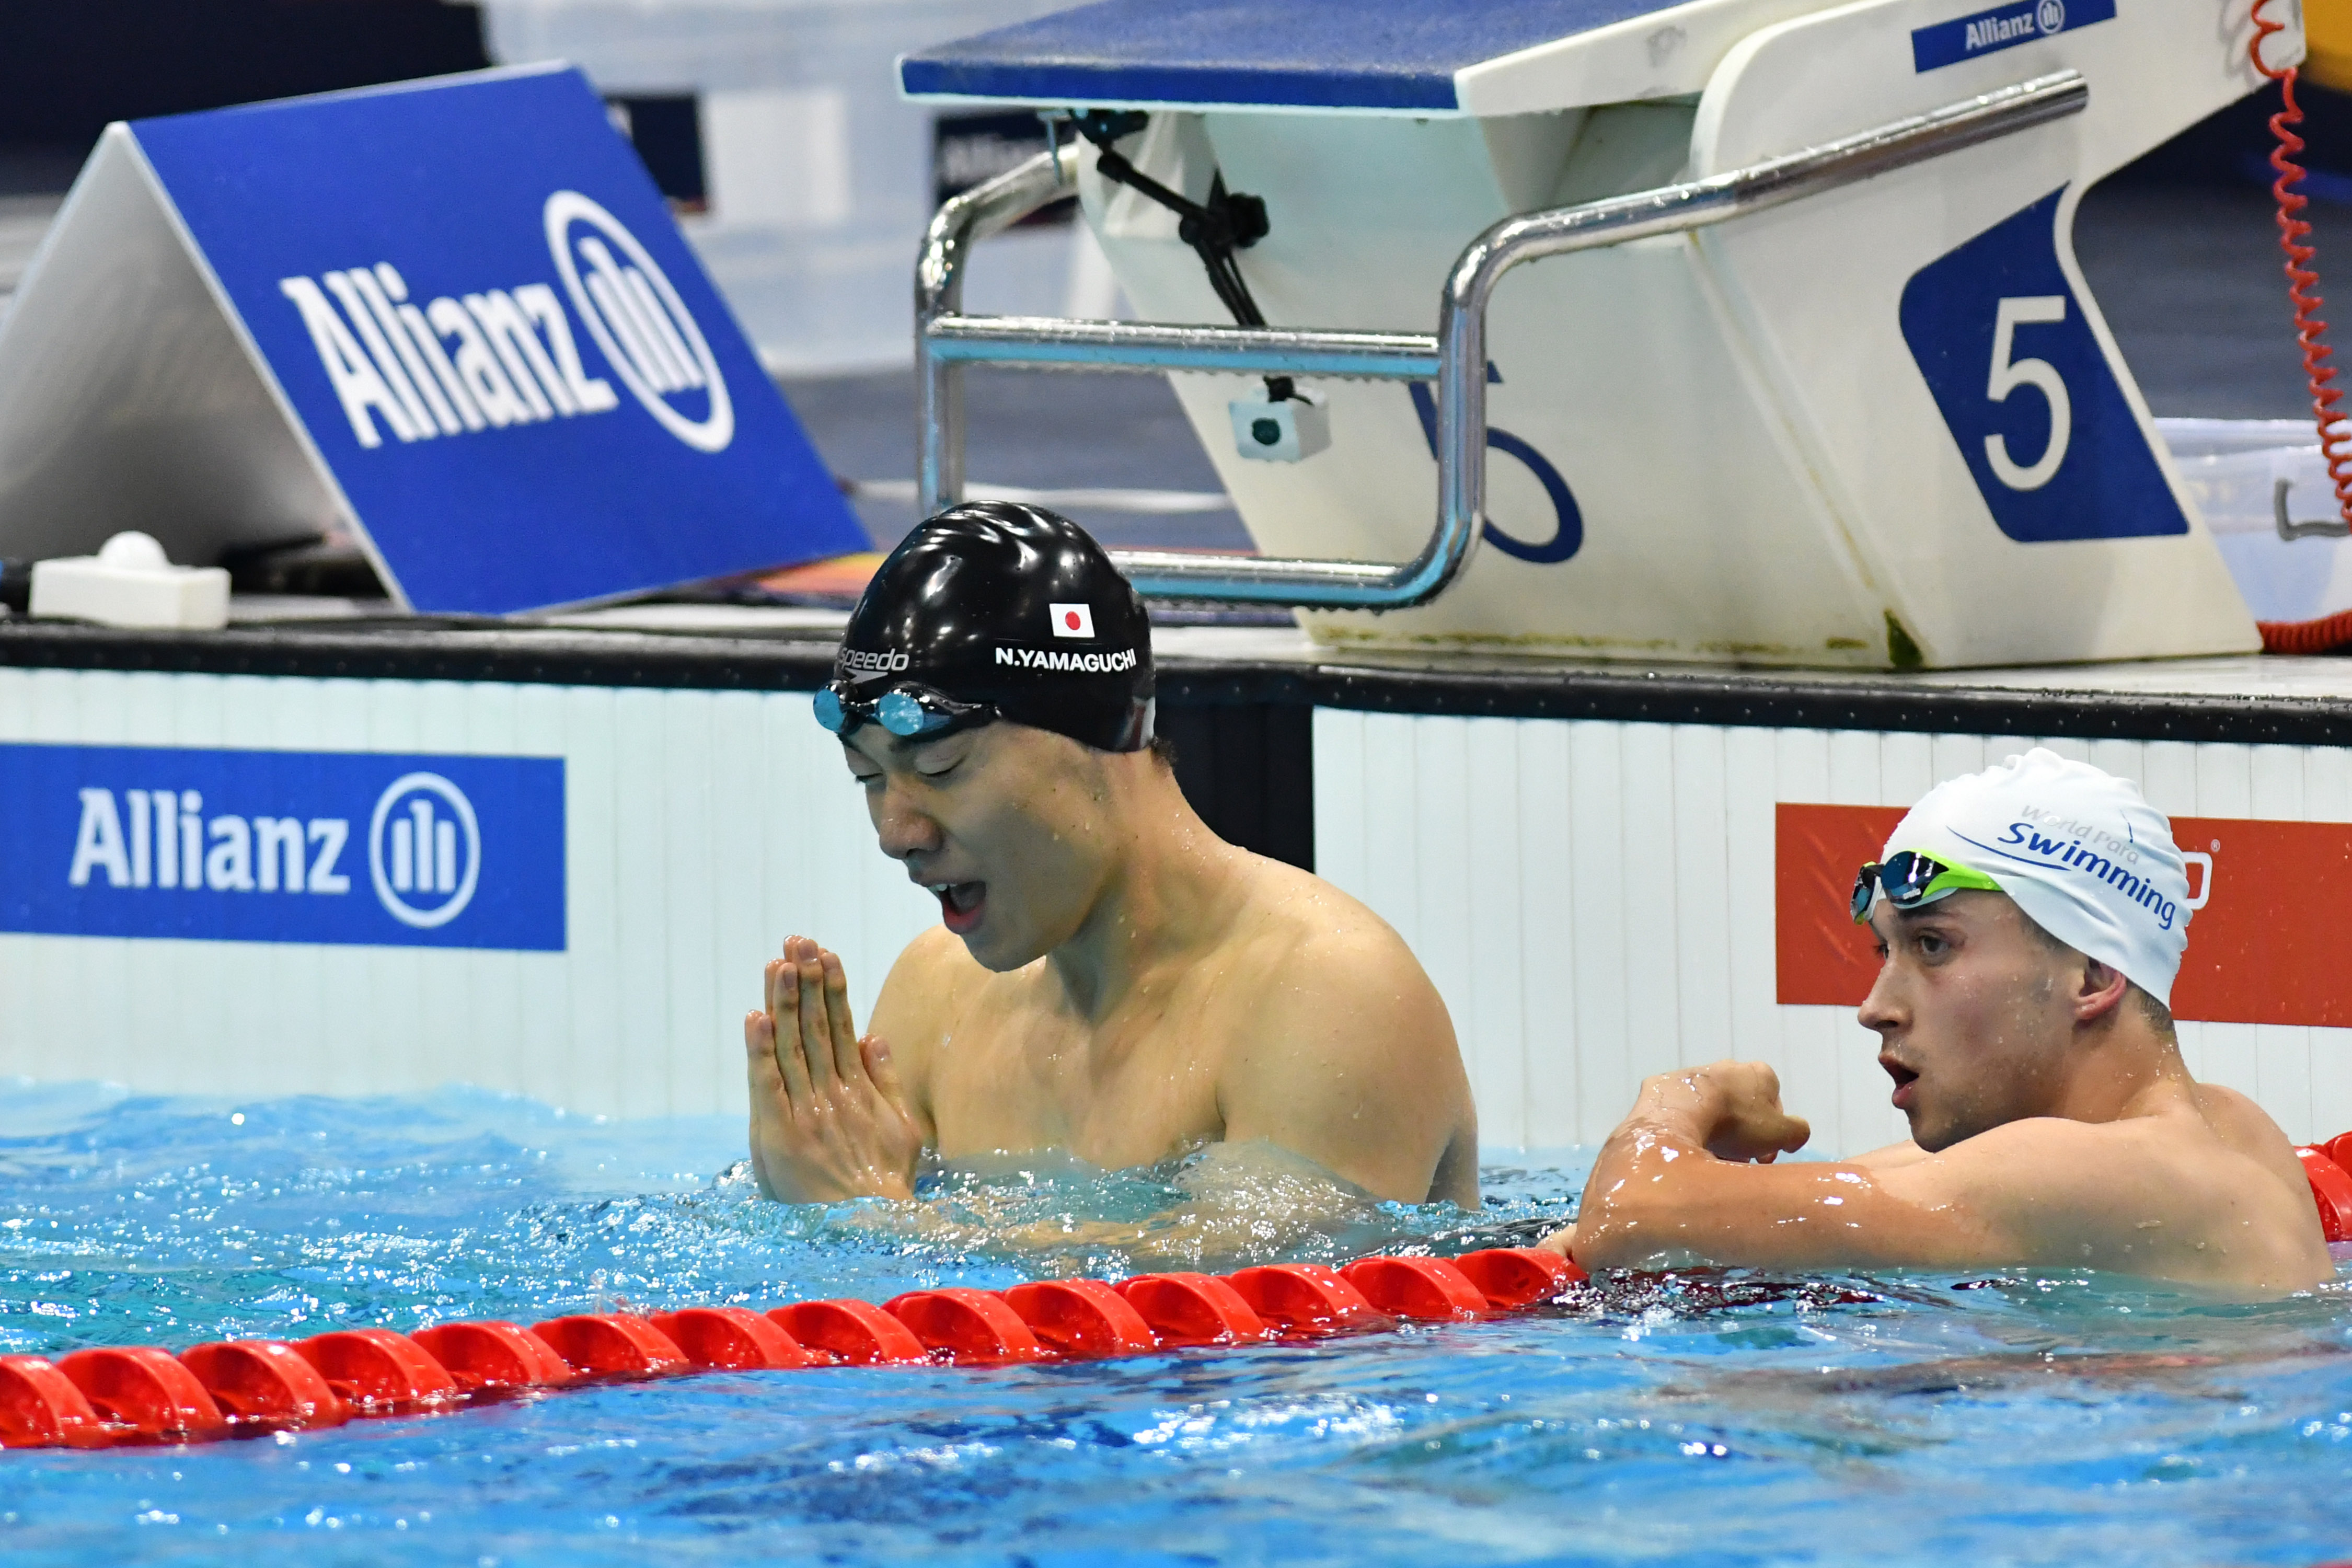
<svg viewBox="0 0 2352 1568">
<path fill-rule="evenodd" d="M 936 919 L 807 693 L 0 668 L 0 743 L 560 757 L 567 809 L 564 952 L 0 936 L 0 1077 L 739 1114 L 786 933 L 842 952 L 866 1018 Z M 2340 748 L 2042 743 L 2169 813 L 2352 820 Z M 1903 1121 L 1849 1009 L 1776 1001 L 1773 806 L 1903 806 L 2025 745 L 1319 708 L 1317 863 L 1437 980 L 1486 1147 L 1597 1143 L 1642 1077 L 1738 1056 L 1856 1152 Z M 2352 1126 L 2347 1034 L 2180 1025 L 2293 1138 Z"/>
</svg>

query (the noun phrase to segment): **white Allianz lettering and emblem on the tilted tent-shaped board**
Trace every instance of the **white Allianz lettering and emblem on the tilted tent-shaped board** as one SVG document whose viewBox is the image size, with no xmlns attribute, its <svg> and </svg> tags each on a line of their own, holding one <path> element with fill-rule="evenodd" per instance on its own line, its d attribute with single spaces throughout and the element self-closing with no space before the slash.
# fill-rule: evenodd
<svg viewBox="0 0 2352 1568">
<path fill-rule="evenodd" d="M 541 226 L 562 296 L 524 282 L 416 301 L 390 261 L 278 280 L 360 447 L 383 447 L 386 430 L 412 444 L 612 414 L 621 397 L 590 374 L 593 348 L 663 430 L 724 451 L 727 378 L 661 263 L 579 190 L 550 195 Z"/>
</svg>

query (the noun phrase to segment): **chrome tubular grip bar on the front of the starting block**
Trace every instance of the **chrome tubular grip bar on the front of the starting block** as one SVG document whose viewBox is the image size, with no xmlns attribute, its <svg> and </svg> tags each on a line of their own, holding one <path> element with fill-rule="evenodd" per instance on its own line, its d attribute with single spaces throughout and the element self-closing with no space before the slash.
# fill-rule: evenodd
<svg viewBox="0 0 2352 1568">
<path fill-rule="evenodd" d="M 922 423 L 922 515 L 964 494 L 964 388 L 971 362 L 1042 369 L 1185 369 L 1289 376 L 1437 381 L 1437 531 L 1409 562 L 1279 559 L 1188 550 L 1112 550 L 1138 592 L 1301 609 L 1404 609 L 1461 574 L 1486 501 L 1486 301 L 1510 268 L 1538 256 L 1705 228 L 1806 195 L 1860 183 L 2082 113 L 2091 89 L 2056 71 L 1947 103 L 1858 136 L 1679 186 L 1503 219 L 1461 254 L 1439 301 L 1437 336 L 1296 327 L 1171 327 L 962 315 L 971 244 L 1070 195 L 1065 150 L 1040 153 L 946 202 L 915 263 L 915 371 Z"/>
</svg>

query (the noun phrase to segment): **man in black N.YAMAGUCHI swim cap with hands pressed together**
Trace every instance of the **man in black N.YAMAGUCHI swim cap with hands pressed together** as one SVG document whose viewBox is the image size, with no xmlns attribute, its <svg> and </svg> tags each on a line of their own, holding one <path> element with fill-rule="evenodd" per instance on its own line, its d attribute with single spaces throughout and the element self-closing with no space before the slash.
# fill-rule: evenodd
<svg viewBox="0 0 2352 1568">
<path fill-rule="evenodd" d="M 941 926 L 873 1034 L 809 938 L 743 1020 L 767 1194 L 908 1197 L 924 1150 L 1105 1168 L 1263 1140 L 1376 1197 L 1477 1206 L 1454 1025 L 1411 950 L 1235 849 L 1152 743 L 1150 621 L 1054 512 L 960 505 L 882 562 L 816 693 Z"/>
</svg>

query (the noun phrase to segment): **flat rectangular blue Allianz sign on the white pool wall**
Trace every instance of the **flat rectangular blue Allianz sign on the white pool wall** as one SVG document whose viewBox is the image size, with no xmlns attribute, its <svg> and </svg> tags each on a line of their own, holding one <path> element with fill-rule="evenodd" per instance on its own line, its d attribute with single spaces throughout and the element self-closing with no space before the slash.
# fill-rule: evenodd
<svg viewBox="0 0 2352 1568">
<path fill-rule="evenodd" d="M 0 745 L 0 931 L 564 947 L 550 757 Z"/>
</svg>

